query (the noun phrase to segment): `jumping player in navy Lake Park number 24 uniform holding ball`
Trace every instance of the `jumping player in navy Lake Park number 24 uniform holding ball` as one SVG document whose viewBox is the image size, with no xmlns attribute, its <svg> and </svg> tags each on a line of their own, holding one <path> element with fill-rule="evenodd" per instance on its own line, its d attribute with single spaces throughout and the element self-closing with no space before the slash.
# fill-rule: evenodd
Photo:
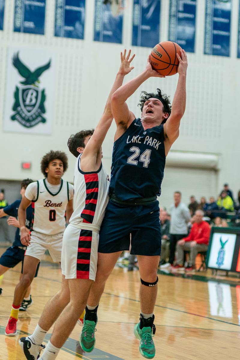
<svg viewBox="0 0 240 360">
<path fill-rule="evenodd" d="M 159 221 L 160 187 L 166 156 L 179 135 L 186 105 L 187 56 L 178 56 L 178 84 L 172 107 L 167 95 L 146 93 L 140 99 L 142 115 L 136 119 L 126 100 L 150 77 L 164 77 L 154 71 L 150 57 L 145 70 L 112 95 L 112 112 L 117 124 L 114 137 L 110 200 L 101 225 L 98 271 L 87 303 L 97 309 L 105 282 L 123 250 L 137 255 L 141 276 L 140 323 L 134 328 L 140 339 L 140 353 L 155 355 L 154 305 L 157 297 L 157 268 L 161 251 Z M 96 311 L 96 310 L 95 310 Z M 95 327 L 94 324 L 93 328 Z"/>
</svg>

